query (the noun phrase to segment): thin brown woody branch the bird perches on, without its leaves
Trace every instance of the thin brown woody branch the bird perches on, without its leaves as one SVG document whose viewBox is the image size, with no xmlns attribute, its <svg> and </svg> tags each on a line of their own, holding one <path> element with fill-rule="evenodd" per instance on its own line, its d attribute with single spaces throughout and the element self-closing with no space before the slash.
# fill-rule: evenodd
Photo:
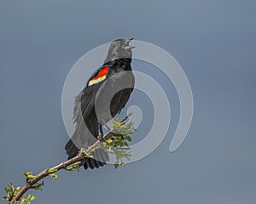
<svg viewBox="0 0 256 204">
<path fill-rule="evenodd" d="M 129 116 L 131 116 L 131 113 L 127 116 L 125 116 L 125 118 L 121 121 L 121 122 L 125 122 Z M 113 136 L 113 133 L 115 132 L 115 130 L 113 128 L 111 128 L 108 133 L 106 133 L 103 136 L 103 139 L 107 140 L 109 139 L 111 136 Z M 99 147 L 101 145 L 101 142 L 99 140 L 96 141 L 95 144 L 90 145 L 85 151 L 86 152 L 90 152 L 92 150 L 95 150 L 97 147 Z M 49 176 L 52 173 L 58 172 L 61 169 L 67 169 L 67 167 L 69 165 L 74 165 L 77 162 L 81 161 L 82 159 L 84 159 L 84 157 L 86 157 L 87 155 L 83 152 L 80 151 L 79 154 L 77 156 L 74 156 L 72 159 L 67 160 L 67 161 L 63 161 L 60 164 L 56 165 L 55 167 L 50 167 L 47 169 L 44 169 L 44 171 L 42 171 L 41 173 L 38 173 L 38 175 L 36 176 L 32 176 L 31 173 L 28 173 L 32 176 L 31 179 L 27 179 L 26 180 L 26 184 L 24 184 L 17 193 L 15 193 L 15 195 L 13 197 L 10 198 L 9 200 L 9 204 L 15 204 L 17 201 L 20 201 L 20 198 L 25 195 L 27 190 L 30 189 L 35 189 L 36 185 L 38 185 L 38 181 L 40 181 L 41 179 Z M 26 176 L 26 178 L 28 178 Z M 39 184 L 40 187 L 40 184 Z"/>
</svg>

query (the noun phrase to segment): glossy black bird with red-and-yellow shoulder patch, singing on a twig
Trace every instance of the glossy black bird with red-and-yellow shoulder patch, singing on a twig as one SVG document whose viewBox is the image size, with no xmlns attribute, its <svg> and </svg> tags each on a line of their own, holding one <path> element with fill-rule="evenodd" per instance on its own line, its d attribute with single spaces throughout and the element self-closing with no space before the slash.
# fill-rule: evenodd
<svg viewBox="0 0 256 204">
<path fill-rule="evenodd" d="M 134 88 L 131 71 L 131 39 L 111 42 L 104 64 L 90 77 L 84 89 L 75 99 L 73 119 L 76 123 L 73 137 L 65 146 L 68 159 L 102 139 L 102 126 L 121 111 Z M 84 158 L 81 165 L 87 169 L 98 168 L 109 160 L 102 149 L 92 152 L 94 158 Z"/>
</svg>

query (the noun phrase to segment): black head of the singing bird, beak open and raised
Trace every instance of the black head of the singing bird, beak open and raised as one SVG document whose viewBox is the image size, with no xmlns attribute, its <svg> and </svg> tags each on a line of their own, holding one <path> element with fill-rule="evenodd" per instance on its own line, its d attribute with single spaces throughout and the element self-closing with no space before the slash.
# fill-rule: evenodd
<svg viewBox="0 0 256 204">
<path fill-rule="evenodd" d="M 120 38 L 111 42 L 110 47 L 108 49 L 108 56 L 107 56 L 107 59 L 105 60 L 105 63 L 113 59 L 131 60 L 131 57 L 132 57 L 131 49 L 135 48 L 129 45 L 129 42 L 131 42 L 131 40 L 133 40 L 133 38 L 131 39 Z"/>
</svg>

